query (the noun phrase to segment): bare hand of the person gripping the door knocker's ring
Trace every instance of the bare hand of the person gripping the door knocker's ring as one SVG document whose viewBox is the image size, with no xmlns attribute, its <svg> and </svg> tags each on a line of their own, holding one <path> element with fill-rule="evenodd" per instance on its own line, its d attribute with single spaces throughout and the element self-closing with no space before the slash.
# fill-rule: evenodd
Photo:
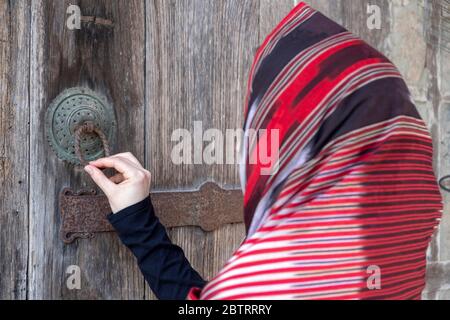
<svg viewBox="0 0 450 320">
<path fill-rule="evenodd" d="M 118 173 L 108 178 L 100 170 L 103 168 L 114 168 Z M 105 193 L 113 213 L 144 200 L 150 193 L 150 172 L 129 152 L 91 161 L 84 170 Z"/>
</svg>

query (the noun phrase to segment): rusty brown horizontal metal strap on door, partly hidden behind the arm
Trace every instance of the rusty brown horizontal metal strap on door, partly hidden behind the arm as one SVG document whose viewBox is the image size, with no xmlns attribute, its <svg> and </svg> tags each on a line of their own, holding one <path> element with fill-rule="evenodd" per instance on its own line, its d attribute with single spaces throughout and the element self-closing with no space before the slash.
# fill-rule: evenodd
<svg viewBox="0 0 450 320">
<path fill-rule="evenodd" d="M 207 182 L 198 191 L 155 192 L 151 199 L 157 216 L 167 228 L 199 226 L 205 231 L 243 221 L 241 190 L 224 190 Z M 114 231 L 107 220 L 111 212 L 104 195 L 95 190 L 73 192 L 66 188 L 59 199 L 61 238 L 72 243 L 96 233 Z"/>
</svg>

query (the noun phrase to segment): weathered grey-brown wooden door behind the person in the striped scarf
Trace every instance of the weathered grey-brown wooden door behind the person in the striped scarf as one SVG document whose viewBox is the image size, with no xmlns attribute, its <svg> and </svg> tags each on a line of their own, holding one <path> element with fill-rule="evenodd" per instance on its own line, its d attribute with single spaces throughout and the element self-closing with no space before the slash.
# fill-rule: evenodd
<svg viewBox="0 0 450 320">
<path fill-rule="evenodd" d="M 64 89 L 89 87 L 106 96 L 116 110 L 114 150 L 131 151 L 145 163 L 153 173 L 154 190 L 195 190 L 206 181 L 238 187 L 236 166 L 173 164 L 171 134 L 180 128 L 193 130 L 195 121 L 204 129 L 242 127 L 253 55 L 295 2 L 0 0 L 0 298 L 154 297 L 114 233 L 71 245 L 61 241 L 58 193 L 63 187 L 77 189 L 92 182 L 82 170 L 56 158 L 45 138 L 45 112 Z M 445 155 L 448 53 L 427 42 L 422 33 L 444 19 L 438 4 L 309 2 L 399 65 L 441 142 L 438 153 Z M 84 16 L 111 20 L 113 27 L 87 23 L 69 30 L 69 5 L 78 5 Z M 381 9 L 379 30 L 367 28 L 368 5 Z M 411 36 L 414 41 L 408 40 Z M 448 168 L 443 161 L 436 163 L 441 170 Z M 448 260 L 448 223 L 443 228 L 447 232 L 430 250 L 429 298 L 449 294 L 448 265 L 443 262 Z M 204 232 L 181 227 L 169 234 L 209 279 L 240 244 L 244 228 L 234 224 Z M 81 271 L 79 290 L 66 285 L 71 265 Z"/>
</svg>

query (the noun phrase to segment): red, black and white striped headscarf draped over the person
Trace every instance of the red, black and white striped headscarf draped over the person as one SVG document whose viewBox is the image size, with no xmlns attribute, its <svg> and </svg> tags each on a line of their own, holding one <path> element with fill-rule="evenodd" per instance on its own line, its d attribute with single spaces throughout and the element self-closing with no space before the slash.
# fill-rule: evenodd
<svg viewBox="0 0 450 320">
<path fill-rule="evenodd" d="M 258 50 L 246 106 L 264 132 L 244 144 L 248 234 L 200 298 L 419 299 L 443 205 L 395 66 L 300 3 Z"/>
</svg>

